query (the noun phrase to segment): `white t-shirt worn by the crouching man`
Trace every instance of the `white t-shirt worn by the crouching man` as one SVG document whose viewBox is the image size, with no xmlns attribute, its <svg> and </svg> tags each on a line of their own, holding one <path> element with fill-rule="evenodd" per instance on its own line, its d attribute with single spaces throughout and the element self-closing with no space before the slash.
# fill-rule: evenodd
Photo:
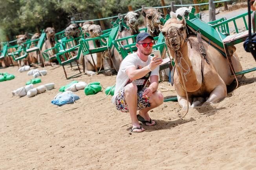
<svg viewBox="0 0 256 170">
<path fill-rule="evenodd" d="M 129 77 L 126 74 L 126 69 L 130 68 L 130 67 L 135 67 L 137 69 L 139 68 L 143 68 L 145 66 L 148 66 L 150 61 L 152 60 L 152 56 L 149 55 L 148 56 L 148 60 L 147 61 L 143 61 L 141 60 L 138 55 L 137 52 L 136 53 L 132 53 L 127 55 L 124 60 L 121 63 L 121 66 L 119 68 L 119 71 L 117 73 L 117 81 L 116 81 L 116 85 L 115 85 L 115 93 L 114 96 L 112 98 L 112 102 L 115 102 L 115 96 L 117 94 L 119 94 L 120 90 L 126 86 L 127 82 L 129 81 Z M 159 76 L 159 66 L 157 66 L 154 70 L 151 71 L 150 76 L 152 75 L 157 75 Z M 139 82 L 137 82 L 139 83 Z"/>
</svg>

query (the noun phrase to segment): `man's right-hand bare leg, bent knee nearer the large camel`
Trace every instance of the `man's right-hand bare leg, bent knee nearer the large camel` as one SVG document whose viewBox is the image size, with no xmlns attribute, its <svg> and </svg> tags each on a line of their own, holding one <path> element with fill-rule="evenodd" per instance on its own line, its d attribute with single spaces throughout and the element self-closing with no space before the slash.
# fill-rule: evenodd
<svg viewBox="0 0 256 170">
<path fill-rule="evenodd" d="M 139 115 L 141 115 L 145 121 L 150 121 L 150 116 L 148 115 L 148 111 L 157 106 L 160 106 L 164 102 L 163 94 L 160 91 L 155 91 L 149 98 L 150 107 L 144 108 L 139 111 Z M 130 108 L 129 108 L 130 110 Z M 155 121 L 152 120 L 152 123 L 146 123 L 147 126 L 152 126 L 155 124 Z"/>
</svg>

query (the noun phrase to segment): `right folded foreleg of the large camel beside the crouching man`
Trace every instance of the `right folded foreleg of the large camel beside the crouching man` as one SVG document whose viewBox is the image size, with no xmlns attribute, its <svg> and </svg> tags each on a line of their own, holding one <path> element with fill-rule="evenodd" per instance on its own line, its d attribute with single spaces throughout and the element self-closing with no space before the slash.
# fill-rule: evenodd
<svg viewBox="0 0 256 170">
<path fill-rule="evenodd" d="M 204 103 L 204 105 L 206 105 L 207 103 L 216 103 L 216 102 L 220 101 L 221 99 L 224 99 L 225 97 L 227 97 L 226 85 L 225 84 L 218 85 L 218 86 L 216 86 L 216 88 L 214 88 L 214 90 L 212 90 L 209 98 Z"/>
</svg>

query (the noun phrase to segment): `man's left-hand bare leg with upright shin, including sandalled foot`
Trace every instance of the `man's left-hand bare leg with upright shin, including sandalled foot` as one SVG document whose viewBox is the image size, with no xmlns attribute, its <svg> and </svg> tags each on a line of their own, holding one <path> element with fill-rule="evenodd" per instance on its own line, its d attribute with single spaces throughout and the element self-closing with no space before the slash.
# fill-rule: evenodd
<svg viewBox="0 0 256 170">
<path fill-rule="evenodd" d="M 129 108 L 130 117 L 132 119 L 132 128 L 139 128 L 140 124 L 137 119 L 137 86 L 133 83 L 127 84 L 124 88 L 125 101 Z M 134 132 L 143 132 L 145 129 L 135 129 Z"/>
</svg>

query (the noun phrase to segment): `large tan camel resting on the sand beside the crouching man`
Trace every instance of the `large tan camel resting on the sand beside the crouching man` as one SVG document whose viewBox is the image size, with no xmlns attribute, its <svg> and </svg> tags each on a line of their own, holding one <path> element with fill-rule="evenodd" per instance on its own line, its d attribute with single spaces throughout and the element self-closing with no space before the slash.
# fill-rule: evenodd
<svg viewBox="0 0 256 170">
<path fill-rule="evenodd" d="M 230 85 L 235 79 L 230 76 L 232 72 L 227 59 L 203 40 L 207 60 L 203 60 L 204 68 L 201 68 L 203 64 L 201 64 L 197 37 L 187 35 L 185 26 L 185 19 L 178 21 L 176 15 L 172 15 L 172 18 L 167 20 L 164 26 L 160 26 L 168 51 L 170 55 L 175 56 L 174 86 L 178 102 L 183 109 L 187 107 L 187 102 L 189 107 L 199 106 L 205 101 L 205 98 L 203 106 L 219 102 L 227 97 L 227 85 Z M 187 41 L 191 42 L 191 48 Z M 235 49 L 230 50 L 232 52 L 230 56 L 232 56 L 234 71 L 238 72 L 242 70 L 242 66 L 234 51 Z M 238 78 L 240 77 L 241 75 Z M 188 101 L 185 90 L 188 93 Z"/>
</svg>

